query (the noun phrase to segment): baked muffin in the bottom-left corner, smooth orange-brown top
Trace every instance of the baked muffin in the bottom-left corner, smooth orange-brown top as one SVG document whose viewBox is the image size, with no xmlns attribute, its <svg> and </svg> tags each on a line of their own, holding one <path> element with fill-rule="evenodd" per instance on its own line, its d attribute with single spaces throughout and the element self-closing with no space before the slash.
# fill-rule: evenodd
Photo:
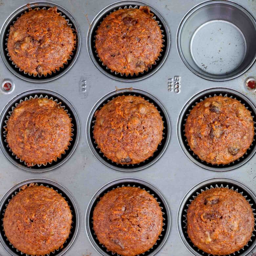
<svg viewBox="0 0 256 256">
<path fill-rule="evenodd" d="M 5 234 L 16 249 L 28 255 L 46 255 L 67 240 L 72 214 L 55 190 L 30 184 L 11 199 L 3 223 Z"/>
</svg>

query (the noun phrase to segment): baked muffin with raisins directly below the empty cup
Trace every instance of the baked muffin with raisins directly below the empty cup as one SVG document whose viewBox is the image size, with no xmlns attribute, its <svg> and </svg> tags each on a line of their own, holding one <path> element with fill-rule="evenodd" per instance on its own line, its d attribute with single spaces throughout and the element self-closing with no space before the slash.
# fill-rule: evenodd
<svg viewBox="0 0 256 256">
<path fill-rule="evenodd" d="M 191 110 L 185 136 L 201 160 L 228 164 L 242 157 L 250 147 L 254 136 L 253 119 L 238 100 L 214 96 Z"/>
</svg>

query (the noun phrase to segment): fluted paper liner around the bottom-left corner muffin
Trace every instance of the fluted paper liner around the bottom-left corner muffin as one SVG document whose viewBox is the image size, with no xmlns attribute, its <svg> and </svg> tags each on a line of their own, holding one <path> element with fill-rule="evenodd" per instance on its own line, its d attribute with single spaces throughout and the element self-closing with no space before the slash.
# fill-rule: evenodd
<svg viewBox="0 0 256 256">
<path fill-rule="evenodd" d="M 31 187 L 31 186 L 44 186 L 44 185 L 43 185 L 43 184 L 40 184 L 40 185 L 39 185 L 38 183 L 28 183 L 28 184 L 23 185 L 22 187 L 20 187 L 20 188 L 19 188 L 19 192 L 20 192 L 21 190 L 26 189 L 26 187 Z M 24 188 L 24 187 L 25 187 L 25 188 Z M 47 186 L 45 186 L 45 187 L 48 187 L 48 188 L 52 188 L 52 189 L 53 189 L 53 187 L 51 187 L 51 186 L 49 186 L 49 185 L 47 185 Z M 54 190 L 54 189 L 53 189 L 53 190 Z M 62 193 L 59 193 L 57 189 L 56 189 L 55 191 L 56 191 L 59 195 L 62 196 Z M 15 197 L 17 194 L 18 194 L 18 192 L 14 192 L 14 194 L 11 195 L 11 198 Z M 63 196 L 62 196 L 62 197 L 63 197 Z M 66 198 L 65 198 L 65 197 L 63 197 L 63 198 L 64 198 L 65 201 L 66 201 Z M 11 201 L 11 199 L 8 199 L 8 203 L 10 203 L 10 201 Z M 68 203 L 69 208 L 71 208 L 71 206 L 69 205 L 69 202 L 68 202 L 68 201 L 66 201 L 66 202 Z M 6 208 L 7 208 L 8 203 L 5 204 L 5 209 L 3 210 L 3 216 L 5 215 L 5 211 L 6 211 Z M 70 211 L 71 211 L 71 215 L 72 215 L 71 228 L 70 228 L 70 230 L 72 230 L 72 229 L 73 229 L 72 224 L 74 223 L 74 222 L 73 222 L 74 216 L 73 216 L 73 214 L 72 214 L 72 210 L 70 210 Z M 2 218 L 1 220 L 2 220 L 2 222 L 3 222 L 4 218 Z M 4 231 L 4 224 L 2 224 L 2 227 L 3 227 L 3 231 Z M 71 231 L 70 231 L 69 234 L 71 234 Z M 6 238 L 6 241 L 9 243 L 9 245 L 11 245 L 12 248 L 16 249 L 16 252 L 19 252 L 21 255 L 24 254 L 24 255 L 26 255 L 26 256 L 32 256 L 31 254 L 25 254 L 25 253 L 21 252 L 20 250 L 18 250 L 17 248 L 15 248 L 15 247 L 10 243 L 10 241 L 9 241 L 9 239 L 7 238 L 7 236 L 5 235 L 5 233 L 4 233 L 4 237 Z M 69 237 L 67 238 L 67 240 L 68 240 L 68 239 L 69 239 Z M 67 240 L 63 243 L 63 245 L 67 243 Z M 40 255 L 40 256 L 45 256 L 45 255 L 50 256 L 51 254 L 57 253 L 61 248 L 63 248 L 63 245 L 61 245 L 58 249 L 56 249 L 56 250 L 54 250 L 54 251 L 52 251 L 52 252 L 50 252 L 50 253 L 48 253 L 48 254 L 44 254 L 44 255 Z M 39 256 L 39 255 L 37 255 L 37 256 Z"/>
</svg>

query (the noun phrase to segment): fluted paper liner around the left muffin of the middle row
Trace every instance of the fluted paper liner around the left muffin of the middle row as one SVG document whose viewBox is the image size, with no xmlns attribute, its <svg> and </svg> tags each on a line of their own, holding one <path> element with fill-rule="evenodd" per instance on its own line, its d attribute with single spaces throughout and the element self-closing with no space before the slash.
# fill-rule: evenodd
<svg viewBox="0 0 256 256">
<path fill-rule="evenodd" d="M 53 99 L 53 97 L 50 97 L 50 98 L 49 98 L 47 95 L 46 95 L 46 96 L 43 96 L 43 95 L 41 94 L 39 97 L 38 97 L 37 95 L 35 95 L 34 97 L 30 96 L 29 98 L 28 98 L 28 97 L 25 97 L 24 100 L 21 99 L 19 103 L 15 103 L 15 107 L 14 107 L 14 106 L 11 107 L 11 111 L 8 112 L 9 115 L 6 116 L 6 120 L 4 121 L 5 124 L 6 124 L 6 125 L 4 126 L 4 132 L 3 132 L 4 137 L 5 137 L 5 140 L 4 140 L 4 141 L 7 143 L 7 148 L 9 148 L 9 151 L 12 152 L 12 150 L 11 150 L 11 148 L 10 148 L 8 142 L 7 142 L 7 133 L 8 133 L 8 131 L 7 131 L 7 123 L 8 123 L 8 121 L 9 121 L 9 118 L 11 117 L 11 114 L 12 114 L 12 112 L 14 111 L 14 109 L 15 109 L 21 102 L 27 101 L 27 100 L 30 100 L 30 99 L 37 99 L 37 98 L 39 98 L 39 99 L 41 99 L 41 98 L 46 98 L 46 99 L 53 100 L 54 102 L 56 102 L 57 105 L 59 105 L 59 106 L 67 113 L 67 115 L 69 116 L 70 122 L 71 122 L 71 135 L 70 135 L 69 144 L 68 144 L 67 148 L 65 149 L 64 153 L 61 153 L 60 156 L 58 156 L 58 157 L 56 157 L 55 159 L 53 159 L 53 161 L 56 162 L 58 159 L 61 159 L 62 155 L 65 155 L 65 154 L 66 154 L 66 152 L 69 150 L 69 146 L 71 146 L 71 141 L 73 141 L 73 138 L 72 138 L 72 137 L 74 136 L 74 134 L 73 134 L 74 129 L 72 128 L 72 127 L 74 127 L 74 124 L 72 123 L 72 118 L 70 117 L 70 114 L 68 113 L 68 110 L 65 109 L 65 106 L 62 105 L 62 102 L 58 102 L 58 100 L 57 100 L 57 99 Z M 27 165 L 28 167 L 31 167 L 31 166 L 36 165 L 35 163 L 28 164 L 26 161 L 21 160 L 20 158 L 18 158 L 13 152 L 12 152 L 12 156 L 15 156 L 16 159 L 19 159 L 21 163 L 24 162 L 25 165 Z M 38 166 L 38 167 L 40 167 L 41 165 L 46 166 L 47 164 L 52 164 L 53 161 L 51 161 L 51 162 L 46 162 L 46 163 L 42 163 L 42 164 L 37 164 L 37 166 Z"/>
</svg>

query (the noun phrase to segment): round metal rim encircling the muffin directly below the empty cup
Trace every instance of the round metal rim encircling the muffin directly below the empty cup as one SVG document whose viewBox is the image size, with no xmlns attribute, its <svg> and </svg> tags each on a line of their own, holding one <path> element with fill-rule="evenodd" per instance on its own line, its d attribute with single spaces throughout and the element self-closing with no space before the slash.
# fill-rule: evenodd
<svg viewBox="0 0 256 256">
<path fill-rule="evenodd" d="M 234 89 L 229 89 L 229 88 L 226 88 L 226 87 L 215 87 L 215 88 L 210 88 L 210 89 L 206 89 L 206 90 L 203 90 L 195 95 L 193 95 L 192 97 L 190 97 L 190 99 L 184 104 L 180 114 L 179 114 L 179 117 L 178 117 L 178 125 L 177 125 L 177 135 L 178 135 L 178 140 L 179 140 L 179 144 L 180 144 L 180 147 L 182 149 L 182 151 L 184 152 L 184 154 L 189 158 L 190 161 L 192 161 L 193 163 L 195 163 L 196 165 L 202 167 L 203 169 L 206 169 L 206 170 L 210 170 L 210 171 L 215 171 L 215 172 L 225 172 L 225 171 L 231 171 L 231 170 L 234 170 L 236 168 L 239 168 L 241 167 L 242 165 L 244 165 L 245 163 L 247 163 L 255 154 L 256 152 L 256 145 L 255 145 L 255 141 L 253 141 L 252 143 L 254 144 L 253 145 L 253 149 L 251 149 L 251 152 L 249 153 L 249 156 L 246 157 L 245 160 L 241 160 L 241 158 L 239 158 L 239 162 L 237 160 L 236 163 L 234 163 L 234 165 L 231 165 L 231 166 L 228 166 L 228 164 L 226 164 L 227 167 L 215 167 L 214 165 L 211 166 L 210 163 L 208 164 L 204 164 L 205 161 L 202 162 L 201 159 L 195 159 L 191 156 L 191 154 L 189 154 L 187 148 L 186 148 L 186 142 L 182 139 L 183 137 L 183 121 L 184 121 L 184 118 L 185 118 L 185 113 L 189 110 L 189 109 L 192 109 L 192 104 L 194 104 L 193 102 L 194 101 L 199 101 L 200 102 L 200 98 L 201 97 L 204 97 L 204 95 L 208 94 L 213 94 L 213 93 L 216 93 L 216 95 L 218 96 L 219 94 L 222 94 L 222 96 L 224 96 L 224 94 L 232 94 L 233 95 L 233 98 L 235 98 L 236 96 L 238 97 L 241 97 L 244 102 L 245 102 L 245 106 L 246 104 L 252 108 L 252 110 L 254 111 L 255 115 L 253 115 L 252 113 L 252 116 L 254 116 L 254 121 L 255 121 L 255 117 L 256 117 L 256 107 L 255 105 L 251 102 L 251 100 L 249 98 L 247 98 L 245 95 L 243 95 L 242 93 L 240 93 L 239 91 L 236 91 Z M 255 126 L 254 126 L 255 127 Z M 255 135 L 254 135 L 254 139 L 255 139 Z M 247 150 L 248 151 L 248 150 Z M 246 152 L 247 152 L 246 151 Z M 206 162 L 205 162 L 206 163 Z"/>
</svg>

